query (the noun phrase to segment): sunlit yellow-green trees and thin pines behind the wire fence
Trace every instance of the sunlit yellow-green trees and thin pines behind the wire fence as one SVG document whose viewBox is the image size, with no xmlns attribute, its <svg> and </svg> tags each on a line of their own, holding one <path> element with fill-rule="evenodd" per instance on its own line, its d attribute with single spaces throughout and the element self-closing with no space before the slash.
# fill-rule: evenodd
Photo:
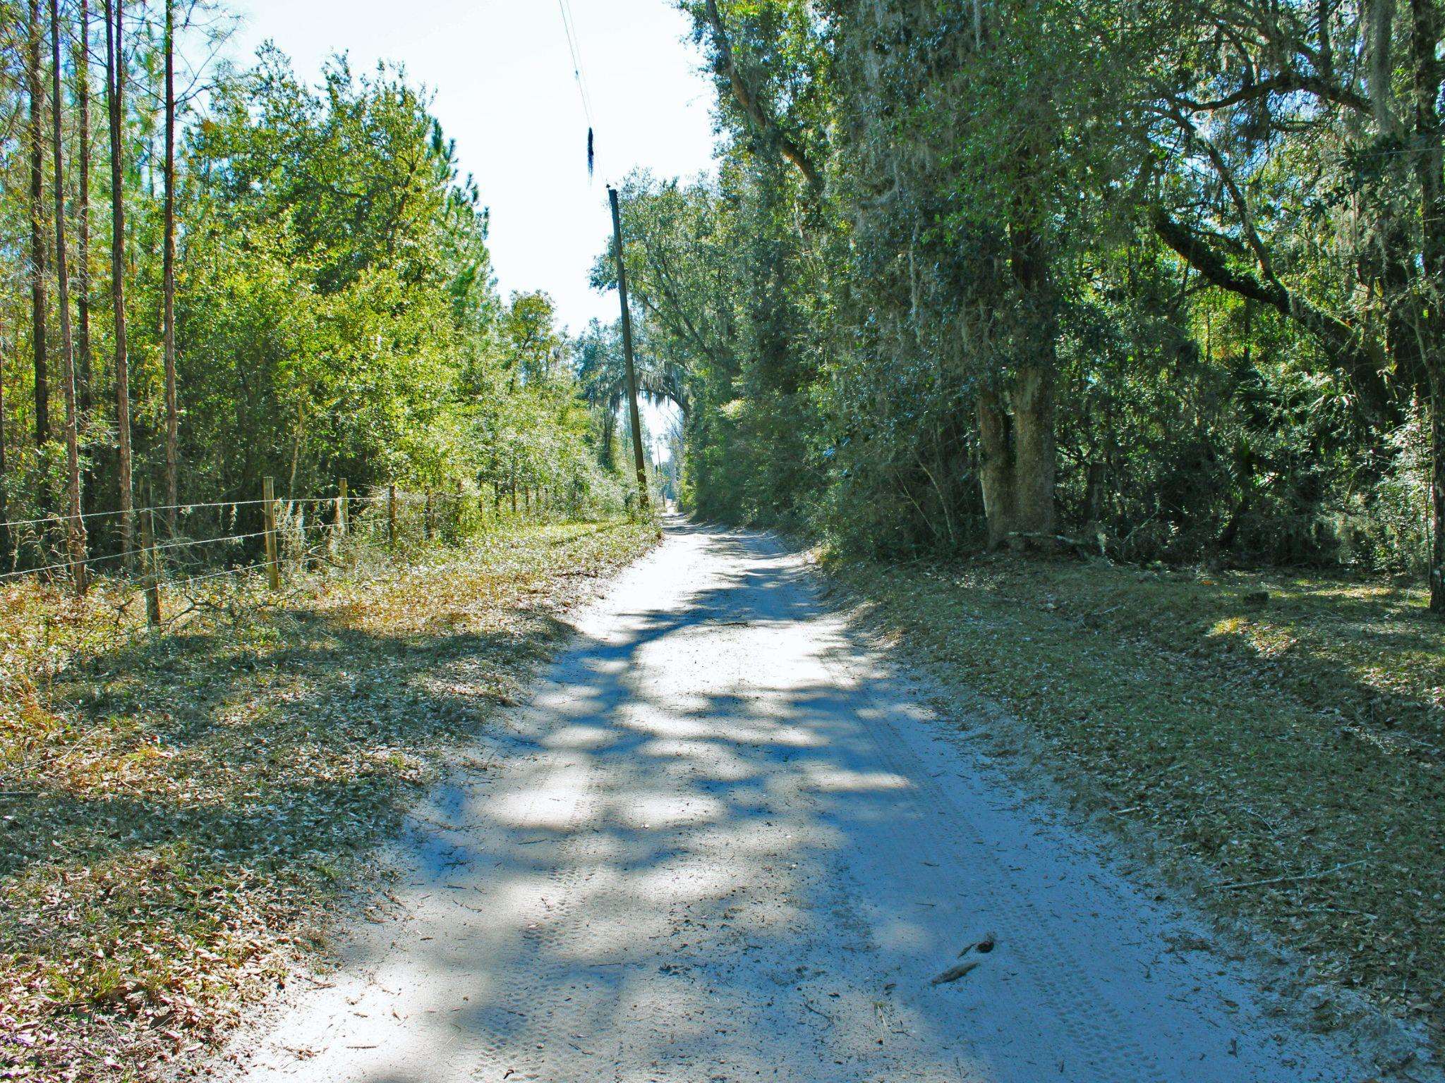
<svg viewBox="0 0 1445 1083">
<path fill-rule="evenodd" d="M 548 293 L 499 290 L 428 94 L 341 56 L 309 85 L 272 45 L 223 64 L 233 16 L 0 0 L 0 579 L 133 567 L 146 507 L 166 544 L 254 536 L 267 477 L 636 500 L 616 400 Z"/>
</svg>

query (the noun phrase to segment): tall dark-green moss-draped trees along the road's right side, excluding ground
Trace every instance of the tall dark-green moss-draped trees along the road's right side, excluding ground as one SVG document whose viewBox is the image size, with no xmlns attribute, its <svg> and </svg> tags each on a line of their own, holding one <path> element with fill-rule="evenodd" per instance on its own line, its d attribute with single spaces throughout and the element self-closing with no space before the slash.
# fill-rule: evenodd
<svg viewBox="0 0 1445 1083">
<path fill-rule="evenodd" d="M 717 169 L 621 195 L 701 513 L 1445 612 L 1439 0 L 679 7 Z"/>
</svg>

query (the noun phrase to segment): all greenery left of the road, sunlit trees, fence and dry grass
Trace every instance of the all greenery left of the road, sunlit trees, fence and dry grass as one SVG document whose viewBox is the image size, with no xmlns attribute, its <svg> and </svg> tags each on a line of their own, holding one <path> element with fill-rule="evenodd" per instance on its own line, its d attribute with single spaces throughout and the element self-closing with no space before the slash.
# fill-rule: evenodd
<svg viewBox="0 0 1445 1083">
<path fill-rule="evenodd" d="M 0 0 L 0 1079 L 286 980 L 656 536 L 614 344 L 501 295 L 428 92 L 234 14 Z"/>
</svg>

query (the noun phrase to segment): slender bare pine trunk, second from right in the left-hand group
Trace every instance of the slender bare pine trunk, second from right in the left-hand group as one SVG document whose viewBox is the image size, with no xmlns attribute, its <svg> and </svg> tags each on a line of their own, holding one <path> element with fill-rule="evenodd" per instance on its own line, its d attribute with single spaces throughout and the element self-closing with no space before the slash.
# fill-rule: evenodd
<svg viewBox="0 0 1445 1083">
<path fill-rule="evenodd" d="M 124 0 L 105 0 L 105 107 L 110 121 L 110 297 L 116 318 L 116 433 L 120 445 L 120 544 L 134 552 L 130 477 L 130 362 L 126 357 L 126 201 L 121 139 L 124 121 Z"/>
</svg>

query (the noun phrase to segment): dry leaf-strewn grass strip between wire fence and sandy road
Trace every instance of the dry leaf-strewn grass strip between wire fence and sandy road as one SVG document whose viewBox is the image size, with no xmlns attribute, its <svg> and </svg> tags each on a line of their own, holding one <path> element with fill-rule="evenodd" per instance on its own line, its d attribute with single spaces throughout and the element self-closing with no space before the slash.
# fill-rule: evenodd
<svg viewBox="0 0 1445 1083">
<path fill-rule="evenodd" d="M 0 595 L 0 1079 L 207 1045 L 652 526 L 510 529 L 166 634 Z"/>
</svg>

